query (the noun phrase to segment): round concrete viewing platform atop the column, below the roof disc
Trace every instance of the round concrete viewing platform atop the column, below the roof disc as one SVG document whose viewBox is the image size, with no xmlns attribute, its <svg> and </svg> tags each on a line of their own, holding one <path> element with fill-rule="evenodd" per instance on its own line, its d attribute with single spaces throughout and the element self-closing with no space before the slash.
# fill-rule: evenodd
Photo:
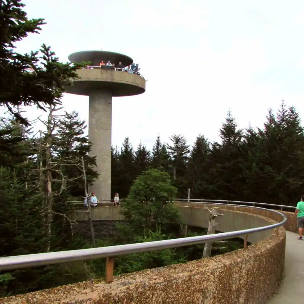
<svg viewBox="0 0 304 304">
<path fill-rule="evenodd" d="M 146 80 L 136 74 L 113 69 L 79 69 L 80 79 L 75 79 L 66 87 L 66 92 L 77 95 L 90 95 L 96 91 L 110 91 L 113 97 L 139 95 L 146 91 Z"/>
</svg>

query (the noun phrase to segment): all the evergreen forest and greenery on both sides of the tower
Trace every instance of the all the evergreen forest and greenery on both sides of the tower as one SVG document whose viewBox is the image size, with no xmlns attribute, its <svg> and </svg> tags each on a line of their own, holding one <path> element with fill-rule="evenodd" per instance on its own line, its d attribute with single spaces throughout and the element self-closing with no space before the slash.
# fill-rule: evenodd
<svg viewBox="0 0 304 304">
<path fill-rule="evenodd" d="M 77 112 L 59 114 L 64 87 L 81 64 L 61 63 L 46 45 L 16 53 L 16 42 L 38 33 L 44 21 L 27 19 L 19 0 L 0 3 L 0 257 L 182 237 L 174 198 L 186 198 L 188 188 L 193 199 L 284 205 L 302 194 L 303 128 L 296 109 L 282 102 L 277 113 L 265 113 L 261 128 L 240 130 L 228 112 L 220 142 L 198 135 L 190 145 L 173 134 L 167 142 L 158 136 L 148 151 L 143 143 L 133 149 L 126 138 L 121 149 L 112 148 L 112 197 L 119 192 L 125 198 L 128 222 L 117 225 L 112 239 L 75 234 L 70 202 L 83 199 L 86 183 L 98 176 L 85 121 Z M 26 118 L 28 111 L 37 113 L 34 121 Z M 204 233 L 188 230 L 188 236 Z M 230 240 L 212 254 L 239 247 Z M 202 250 L 198 245 L 122 256 L 115 274 L 201 258 Z M 0 296 L 102 278 L 104 268 L 100 259 L 0 272 Z"/>
</svg>

